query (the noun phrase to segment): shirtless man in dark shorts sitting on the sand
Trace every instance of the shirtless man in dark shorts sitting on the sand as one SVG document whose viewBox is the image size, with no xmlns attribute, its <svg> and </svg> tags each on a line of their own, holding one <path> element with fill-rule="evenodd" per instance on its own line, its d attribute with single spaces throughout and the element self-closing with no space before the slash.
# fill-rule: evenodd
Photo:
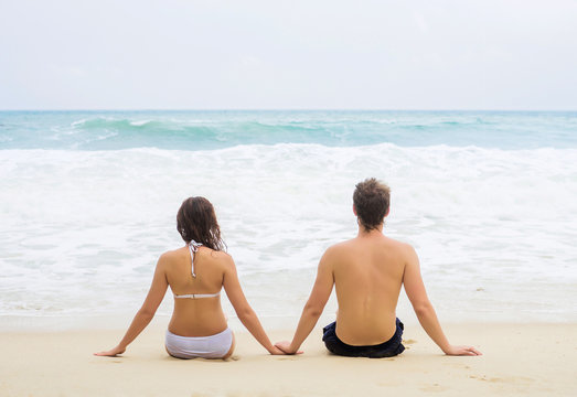
<svg viewBox="0 0 577 397">
<path fill-rule="evenodd" d="M 481 354 L 472 346 L 451 345 L 445 336 L 427 297 L 415 249 L 383 234 L 388 206 L 387 185 L 375 179 L 356 185 L 353 212 L 359 234 L 327 249 L 292 342 L 279 342 L 277 347 L 288 354 L 298 352 L 335 286 L 339 311 L 336 322 L 323 329 L 327 348 L 339 355 L 373 358 L 400 354 L 405 350 L 403 323 L 395 310 L 405 286 L 420 324 L 445 354 Z"/>
</svg>

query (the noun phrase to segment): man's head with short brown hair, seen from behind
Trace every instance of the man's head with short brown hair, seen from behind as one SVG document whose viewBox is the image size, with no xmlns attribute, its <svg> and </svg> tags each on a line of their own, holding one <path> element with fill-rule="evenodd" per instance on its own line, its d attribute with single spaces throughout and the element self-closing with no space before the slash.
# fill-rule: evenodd
<svg viewBox="0 0 577 397">
<path fill-rule="evenodd" d="M 353 194 L 354 212 L 359 224 L 367 232 L 377 228 L 388 214 L 391 203 L 391 189 L 370 178 L 356 184 Z"/>
</svg>

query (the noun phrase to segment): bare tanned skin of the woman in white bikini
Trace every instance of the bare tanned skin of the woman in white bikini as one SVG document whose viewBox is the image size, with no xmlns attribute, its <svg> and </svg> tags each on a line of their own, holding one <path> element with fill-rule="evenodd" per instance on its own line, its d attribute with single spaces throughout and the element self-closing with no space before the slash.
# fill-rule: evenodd
<svg viewBox="0 0 577 397">
<path fill-rule="evenodd" d="M 191 277 L 191 255 L 188 246 L 164 253 L 158 260 L 152 285 L 142 307 L 135 315 L 125 336 L 109 351 L 95 353 L 98 356 L 116 356 L 150 323 L 162 302 L 168 287 L 175 294 L 216 293 L 224 287 L 236 314 L 253 336 L 270 354 L 284 354 L 270 343 L 254 310 L 243 293 L 233 258 L 223 251 L 200 247 L 194 255 L 196 278 Z M 181 336 L 209 336 L 226 330 L 227 323 L 221 307 L 221 298 L 174 299 L 174 310 L 169 331 Z M 222 357 L 233 354 L 235 344 Z"/>
</svg>

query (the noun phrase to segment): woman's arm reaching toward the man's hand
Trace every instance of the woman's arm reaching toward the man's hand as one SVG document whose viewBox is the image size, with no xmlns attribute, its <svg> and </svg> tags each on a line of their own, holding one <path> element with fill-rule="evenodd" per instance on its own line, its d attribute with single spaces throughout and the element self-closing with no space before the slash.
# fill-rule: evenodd
<svg viewBox="0 0 577 397">
<path fill-rule="evenodd" d="M 270 343 L 270 340 L 263 329 L 260 321 L 258 321 L 258 316 L 256 315 L 253 308 L 250 308 L 250 304 L 248 304 L 248 301 L 246 300 L 246 297 L 241 287 L 241 282 L 238 281 L 236 266 L 233 258 L 228 255 L 226 256 L 226 268 L 224 272 L 223 286 L 228 300 L 233 304 L 233 308 L 238 315 L 238 319 L 243 325 L 246 326 L 248 332 L 250 332 L 250 334 L 258 341 L 258 343 L 263 345 L 263 347 L 268 351 L 268 353 L 284 354 L 280 348 Z"/>
</svg>

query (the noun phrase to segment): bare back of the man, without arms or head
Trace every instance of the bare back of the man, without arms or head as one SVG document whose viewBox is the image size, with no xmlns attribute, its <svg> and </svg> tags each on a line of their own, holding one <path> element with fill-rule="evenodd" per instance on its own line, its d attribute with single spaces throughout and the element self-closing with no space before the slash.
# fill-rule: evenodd
<svg viewBox="0 0 577 397">
<path fill-rule="evenodd" d="M 393 336 L 408 249 L 377 230 L 328 249 L 339 301 L 336 335 L 344 343 L 375 345 Z"/>
</svg>

